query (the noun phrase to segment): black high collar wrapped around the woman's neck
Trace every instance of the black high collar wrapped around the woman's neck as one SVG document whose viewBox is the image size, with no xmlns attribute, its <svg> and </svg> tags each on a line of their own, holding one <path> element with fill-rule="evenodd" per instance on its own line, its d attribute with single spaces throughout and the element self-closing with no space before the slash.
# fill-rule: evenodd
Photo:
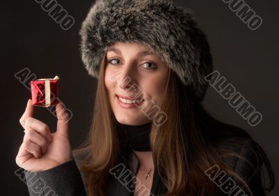
<svg viewBox="0 0 279 196">
<path fill-rule="evenodd" d="M 151 151 L 150 132 L 152 122 L 140 126 L 131 126 L 119 123 L 120 142 L 125 148 L 133 151 Z"/>
</svg>

